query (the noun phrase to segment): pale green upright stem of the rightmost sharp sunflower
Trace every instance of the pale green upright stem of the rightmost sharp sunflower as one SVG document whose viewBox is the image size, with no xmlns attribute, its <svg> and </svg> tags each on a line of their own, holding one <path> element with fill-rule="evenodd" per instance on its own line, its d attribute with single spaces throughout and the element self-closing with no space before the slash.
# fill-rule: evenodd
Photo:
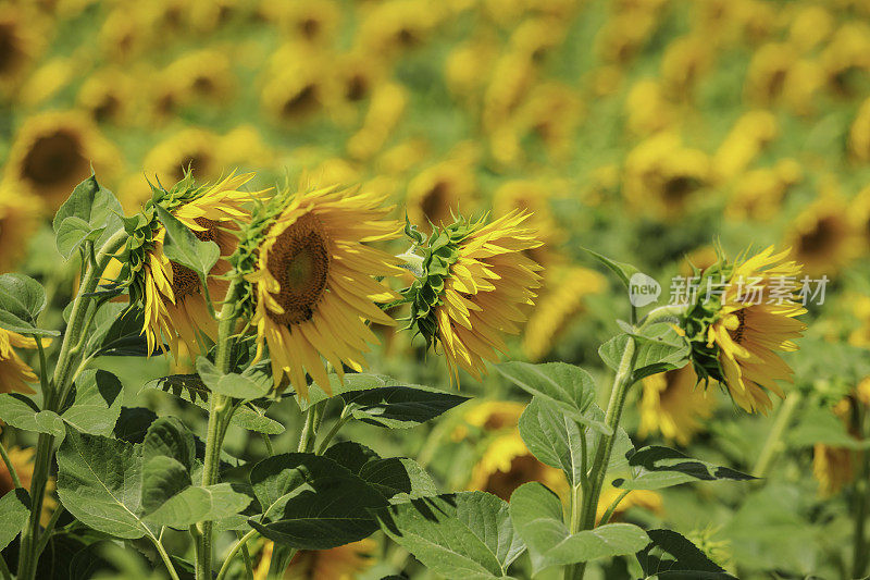
<svg viewBox="0 0 870 580">
<path fill-rule="evenodd" d="M 625 343 L 625 350 L 622 353 L 617 375 L 613 378 L 610 402 L 607 405 L 605 422 L 607 427 L 610 428 L 610 434 L 602 434 L 595 449 L 592 470 L 589 471 L 589 493 L 583 497 L 581 525 L 580 529 L 576 531 L 592 530 L 595 528 L 595 519 L 598 513 L 598 499 L 601 495 L 607 466 L 610 464 L 610 454 L 613 452 L 613 443 L 617 441 L 617 432 L 619 430 L 620 420 L 622 419 L 622 410 L 625 407 L 625 397 L 629 394 L 629 388 L 633 384 L 632 373 L 634 372 L 635 354 L 634 338 L 630 336 L 629 341 Z M 586 563 L 574 564 L 570 566 L 569 569 L 572 576 L 566 576 L 566 578 L 583 580 L 583 576 L 586 572 Z"/>
</svg>

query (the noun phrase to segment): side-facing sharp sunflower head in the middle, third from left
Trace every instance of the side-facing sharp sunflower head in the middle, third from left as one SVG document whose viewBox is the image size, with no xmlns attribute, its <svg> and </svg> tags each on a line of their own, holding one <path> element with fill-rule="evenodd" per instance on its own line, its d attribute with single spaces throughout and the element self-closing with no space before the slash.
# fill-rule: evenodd
<svg viewBox="0 0 870 580">
<path fill-rule="evenodd" d="M 502 333 L 518 334 L 540 286 L 540 267 L 523 251 L 540 245 L 512 211 L 490 223 L 458 219 L 436 227 L 423 245 L 422 275 L 406 291 L 411 328 L 444 349 L 452 379 L 462 368 L 480 379 L 484 359 L 505 351 Z M 414 232 L 418 243 L 423 236 Z"/>
</svg>

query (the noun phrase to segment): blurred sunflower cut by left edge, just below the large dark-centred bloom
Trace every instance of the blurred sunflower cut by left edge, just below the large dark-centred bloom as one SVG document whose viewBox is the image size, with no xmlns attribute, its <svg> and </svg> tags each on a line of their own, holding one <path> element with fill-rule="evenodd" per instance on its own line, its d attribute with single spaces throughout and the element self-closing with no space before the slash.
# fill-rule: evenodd
<svg viewBox="0 0 870 580">
<path fill-rule="evenodd" d="M 39 226 L 40 205 L 11 181 L 0 182 L 0 272 L 9 272 L 24 257 L 27 245 L 23 240 Z"/>
</svg>

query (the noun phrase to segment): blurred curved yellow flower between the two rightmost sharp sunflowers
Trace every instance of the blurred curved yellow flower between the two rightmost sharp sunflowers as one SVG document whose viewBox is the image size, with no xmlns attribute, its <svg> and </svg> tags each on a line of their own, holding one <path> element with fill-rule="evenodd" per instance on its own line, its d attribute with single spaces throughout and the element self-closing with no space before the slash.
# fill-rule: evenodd
<svg viewBox="0 0 870 580">
<path fill-rule="evenodd" d="M 529 313 L 522 348 L 529 360 L 546 357 L 579 316 L 586 311 L 588 297 L 607 288 L 605 277 L 581 267 L 546 269 L 540 295 Z"/>
</svg>

